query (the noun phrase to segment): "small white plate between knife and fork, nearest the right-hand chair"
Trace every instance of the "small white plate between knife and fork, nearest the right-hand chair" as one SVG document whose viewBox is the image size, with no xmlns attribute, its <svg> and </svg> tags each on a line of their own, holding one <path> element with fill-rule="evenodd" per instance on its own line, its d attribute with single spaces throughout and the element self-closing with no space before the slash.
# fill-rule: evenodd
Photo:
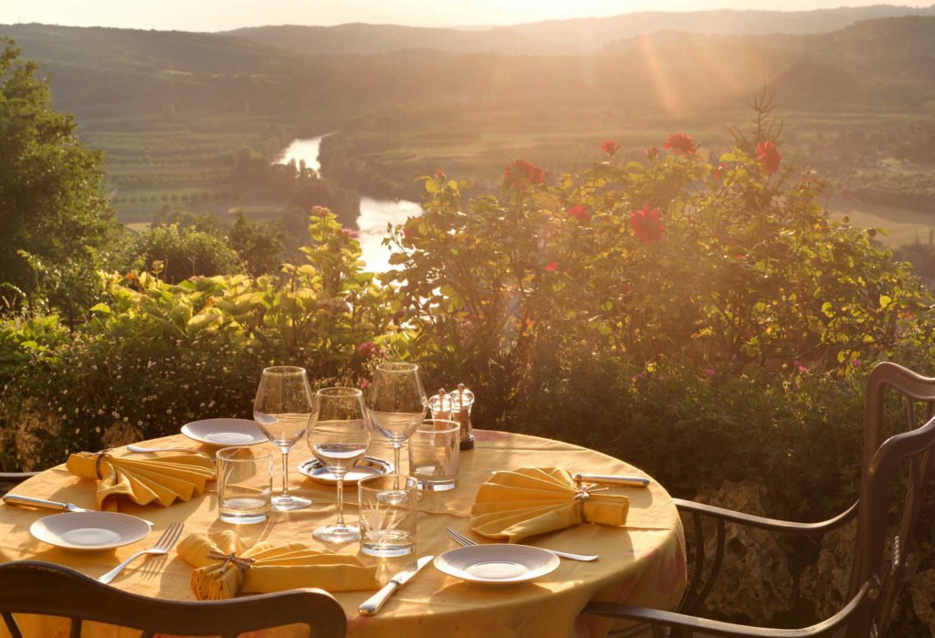
<svg viewBox="0 0 935 638">
<path fill-rule="evenodd" d="M 550 574 L 558 557 L 539 547 L 490 544 L 449 550 L 434 564 L 440 572 L 472 583 L 507 585 Z"/>
</svg>

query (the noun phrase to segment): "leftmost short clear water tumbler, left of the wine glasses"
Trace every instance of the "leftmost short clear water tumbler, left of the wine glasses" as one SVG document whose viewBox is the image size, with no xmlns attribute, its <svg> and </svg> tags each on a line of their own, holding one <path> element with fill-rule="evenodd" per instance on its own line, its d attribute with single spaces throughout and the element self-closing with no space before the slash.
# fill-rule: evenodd
<svg viewBox="0 0 935 638">
<path fill-rule="evenodd" d="M 223 447 L 218 461 L 218 517 L 225 523 L 262 523 L 273 495 L 273 453 L 263 447 Z"/>
</svg>

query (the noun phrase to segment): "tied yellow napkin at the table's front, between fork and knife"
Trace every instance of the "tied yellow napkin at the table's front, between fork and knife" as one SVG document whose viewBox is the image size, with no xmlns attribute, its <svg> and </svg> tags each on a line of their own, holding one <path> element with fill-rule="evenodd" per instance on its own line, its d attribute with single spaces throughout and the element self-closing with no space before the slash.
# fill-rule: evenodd
<svg viewBox="0 0 935 638">
<path fill-rule="evenodd" d="M 274 546 L 260 542 L 248 549 L 235 532 L 224 531 L 210 536 L 191 534 L 176 551 L 195 568 L 192 591 L 199 601 L 304 587 L 326 591 L 380 588 L 375 566 L 301 543 Z"/>
</svg>

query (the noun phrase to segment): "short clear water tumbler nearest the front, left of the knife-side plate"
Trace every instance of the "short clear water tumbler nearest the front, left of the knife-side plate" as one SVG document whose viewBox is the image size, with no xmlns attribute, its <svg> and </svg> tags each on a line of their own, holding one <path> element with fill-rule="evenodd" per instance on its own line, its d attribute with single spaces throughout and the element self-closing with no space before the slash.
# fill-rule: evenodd
<svg viewBox="0 0 935 638">
<path fill-rule="evenodd" d="M 411 554 L 418 490 L 412 476 L 367 476 L 357 483 L 360 550 L 370 556 Z"/>
</svg>

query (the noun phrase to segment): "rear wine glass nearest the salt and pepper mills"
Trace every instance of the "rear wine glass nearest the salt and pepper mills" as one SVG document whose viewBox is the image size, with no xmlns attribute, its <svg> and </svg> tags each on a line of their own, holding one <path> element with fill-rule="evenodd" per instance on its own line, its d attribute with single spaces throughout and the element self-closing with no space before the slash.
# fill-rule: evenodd
<svg viewBox="0 0 935 638">
<path fill-rule="evenodd" d="M 396 477 L 401 475 L 399 449 L 422 423 L 428 398 L 415 363 L 380 363 L 367 392 L 373 425 L 393 445 Z"/>
</svg>

